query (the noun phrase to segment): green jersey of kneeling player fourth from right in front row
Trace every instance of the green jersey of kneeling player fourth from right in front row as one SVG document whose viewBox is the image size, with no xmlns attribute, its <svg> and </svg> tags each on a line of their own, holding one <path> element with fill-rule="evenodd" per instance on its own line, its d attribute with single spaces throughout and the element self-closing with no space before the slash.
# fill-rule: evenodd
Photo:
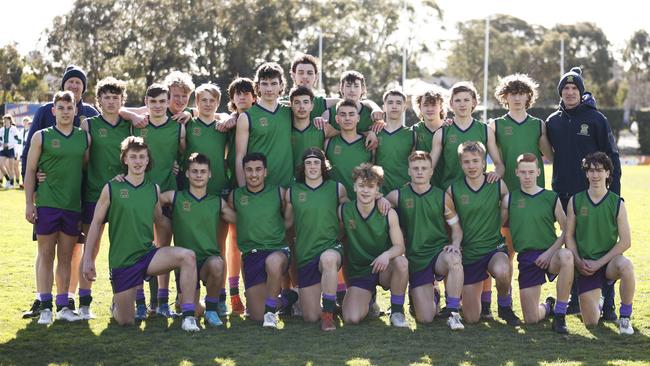
<svg viewBox="0 0 650 366">
<path fill-rule="evenodd" d="M 409 271 L 418 272 L 449 243 L 445 228 L 445 192 L 431 186 L 418 194 L 408 184 L 400 188 L 397 201 L 400 226 L 406 237 Z"/>
</svg>

